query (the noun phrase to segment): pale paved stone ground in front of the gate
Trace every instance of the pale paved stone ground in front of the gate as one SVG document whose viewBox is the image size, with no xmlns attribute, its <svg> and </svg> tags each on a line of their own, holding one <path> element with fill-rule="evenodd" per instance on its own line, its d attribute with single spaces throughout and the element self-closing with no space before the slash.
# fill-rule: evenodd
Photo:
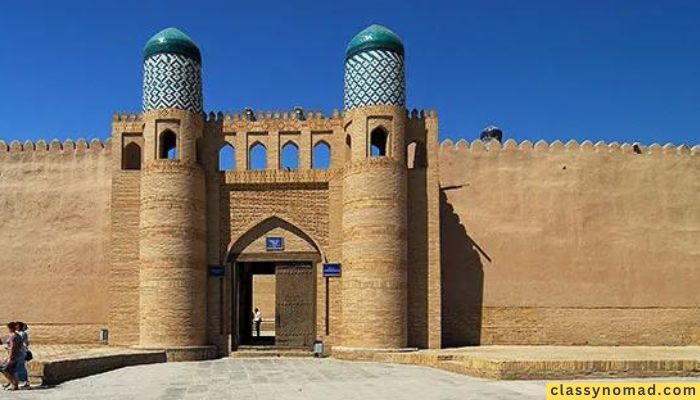
<svg viewBox="0 0 700 400">
<path fill-rule="evenodd" d="M 544 383 L 485 381 L 426 367 L 333 359 L 221 359 L 127 367 L 55 388 L 2 392 L 0 398 L 521 400 L 543 399 Z"/>
</svg>

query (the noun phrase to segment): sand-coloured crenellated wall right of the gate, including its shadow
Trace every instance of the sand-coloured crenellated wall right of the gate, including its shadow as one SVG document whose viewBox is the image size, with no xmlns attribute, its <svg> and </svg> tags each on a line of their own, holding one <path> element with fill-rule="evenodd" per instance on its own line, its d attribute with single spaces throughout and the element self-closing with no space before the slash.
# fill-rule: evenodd
<svg viewBox="0 0 700 400">
<path fill-rule="evenodd" d="M 444 345 L 700 343 L 698 150 L 443 143 Z"/>
</svg>

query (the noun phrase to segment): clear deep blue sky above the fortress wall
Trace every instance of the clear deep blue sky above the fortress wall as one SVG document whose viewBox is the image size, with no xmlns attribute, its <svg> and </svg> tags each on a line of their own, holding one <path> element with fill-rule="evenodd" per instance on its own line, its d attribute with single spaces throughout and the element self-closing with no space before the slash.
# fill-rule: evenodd
<svg viewBox="0 0 700 400">
<path fill-rule="evenodd" d="M 140 110 L 159 30 L 203 54 L 208 111 L 342 107 L 347 42 L 371 23 L 406 46 L 409 108 L 441 139 L 700 142 L 699 1 L 33 1 L 0 23 L 0 139 L 110 135 Z"/>
</svg>

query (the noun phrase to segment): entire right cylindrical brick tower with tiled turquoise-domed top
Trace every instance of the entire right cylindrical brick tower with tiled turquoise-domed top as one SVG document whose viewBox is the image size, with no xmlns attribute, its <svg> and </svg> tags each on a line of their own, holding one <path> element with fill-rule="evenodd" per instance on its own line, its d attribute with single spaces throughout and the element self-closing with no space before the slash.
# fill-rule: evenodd
<svg viewBox="0 0 700 400">
<path fill-rule="evenodd" d="M 406 347 L 404 47 L 372 25 L 345 55 L 341 345 Z"/>
</svg>

